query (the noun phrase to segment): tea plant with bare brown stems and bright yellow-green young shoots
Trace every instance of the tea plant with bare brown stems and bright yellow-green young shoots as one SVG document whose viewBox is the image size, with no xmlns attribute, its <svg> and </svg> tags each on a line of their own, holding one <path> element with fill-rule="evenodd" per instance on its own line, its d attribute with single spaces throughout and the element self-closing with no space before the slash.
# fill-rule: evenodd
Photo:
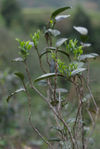
<svg viewBox="0 0 100 149">
<path fill-rule="evenodd" d="M 85 48 L 91 46 L 90 43 L 86 43 L 88 30 L 80 26 L 73 27 L 80 35 L 80 42 L 77 39 L 70 39 L 70 37 L 61 38 L 60 31 L 55 29 L 57 22 L 70 17 L 70 15 L 59 14 L 70 8 L 63 7 L 51 14 L 49 23 L 44 30 L 46 47 L 42 51 L 38 48 L 42 34 L 40 30 L 31 35 L 31 41 L 17 39 L 20 57 L 13 61 L 24 64 L 28 83 L 26 83 L 22 72 L 16 72 L 15 75 L 20 78 L 23 88 L 18 89 L 7 98 L 9 101 L 10 97 L 19 92 L 26 93 L 30 125 L 50 149 L 88 149 L 89 139 L 98 115 L 98 107 L 89 87 L 89 60 L 94 59 L 98 54 L 84 54 Z M 34 81 L 27 63 L 32 49 L 37 52 L 43 72 Z M 46 58 L 48 67 L 45 67 L 42 62 L 43 56 Z M 43 94 L 35 87 L 35 84 L 38 82 L 43 84 L 44 80 L 47 90 L 45 89 Z M 64 80 L 65 84 L 70 83 L 70 87 L 61 87 L 61 80 Z M 52 129 L 56 131 L 55 138 L 43 136 L 39 129 L 33 125 L 29 87 L 36 91 L 53 113 L 55 126 L 53 125 Z M 74 88 L 74 92 L 71 92 L 72 88 Z M 74 99 L 70 99 L 71 94 L 74 94 Z"/>
</svg>

